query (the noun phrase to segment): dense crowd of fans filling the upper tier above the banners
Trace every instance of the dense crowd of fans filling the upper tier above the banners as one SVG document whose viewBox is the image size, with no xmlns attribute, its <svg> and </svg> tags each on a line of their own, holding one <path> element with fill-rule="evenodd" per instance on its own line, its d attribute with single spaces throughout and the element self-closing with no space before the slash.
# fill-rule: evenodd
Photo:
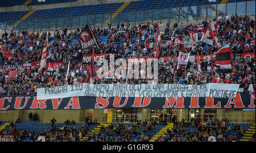
<svg viewBox="0 0 256 153">
<path fill-rule="evenodd" d="M 238 53 L 254 52 L 255 44 L 255 20 L 249 16 L 219 16 L 217 19 L 220 22 L 220 30 L 218 36 L 221 46 L 230 44 L 230 49 L 234 55 L 232 59 L 232 69 L 221 69 L 214 64 L 214 60 L 200 60 L 201 72 L 197 70 L 197 61 L 195 63 L 188 62 L 187 65 L 180 65 L 178 70 L 175 68 L 175 55 L 179 51 L 190 52 L 191 55 L 208 55 L 216 53 L 216 46 L 209 46 L 203 42 L 199 42 L 193 48 L 183 48 L 182 44 L 174 45 L 175 39 L 185 40 L 189 36 L 189 32 L 196 32 L 196 24 L 178 24 L 173 26 L 167 23 L 164 30 L 160 30 L 160 35 L 163 41 L 163 54 L 160 56 L 170 56 L 170 61 L 162 61 L 159 63 L 158 83 L 174 83 L 174 84 L 203 84 L 207 82 L 220 82 L 226 84 L 240 84 L 242 88 L 248 88 L 249 84 L 255 80 L 255 58 L 244 59 L 237 56 Z M 204 21 L 205 27 L 208 26 L 210 20 Z M 199 23 L 201 24 L 201 23 Z M 48 48 L 47 61 L 63 61 L 60 67 L 55 69 L 53 76 L 47 76 L 47 67 L 43 71 L 38 72 L 39 67 L 19 68 L 19 69 L 1 69 L 0 70 L 0 90 L 2 95 L 24 95 L 34 94 L 37 88 L 50 87 L 65 84 L 65 74 L 68 68 L 68 61 L 71 61 L 70 72 L 67 79 L 67 84 L 75 84 L 81 82 L 89 82 L 88 71 L 89 64 L 82 63 L 83 55 L 90 55 L 91 49 L 82 50 L 78 43 L 71 43 L 72 39 L 76 38 L 80 29 L 67 32 L 67 27 L 64 30 L 55 30 L 53 37 L 54 41 Z M 155 41 L 153 33 L 156 33 L 156 22 L 153 23 L 138 23 L 125 24 L 118 23 L 116 27 L 109 24 L 108 28 L 93 28 L 97 38 L 100 36 L 108 36 L 107 42 L 98 39 L 101 49 L 96 49 L 94 54 L 105 53 L 105 58 L 109 59 L 109 53 L 113 53 L 115 59 L 133 58 L 133 57 L 155 57 L 155 51 L 149 47 L 149 44 Z M 121 32 L 120 32 L 121 31 Z M 199 40 L 201 34 L 199 32 Z M 7 44 L 6 48 L 10 56 L 4 56 L 0 52 L 0 65 L 2 64 L 23 64 L 23 63 L 40 63 L 42 49 L 46 41 L 47 33 L 42 32 L 29 33 L 22 31 L 19 33 L 5 32 L 2 35 L 2 44 Z M 171 44 L 167 43 L 170 42 Z M 238 43 L 242 45 L 238 47 Z M 246 47 L 249 46 L 249 47 Z M 181 67 L 182 66 L 182 67 Z M 97 70 L 96 66 L 96 70 Z M 15 80 L 7 80 L 9 72 L 16 70 L 17 75 Z M 143 72 L 142 72 L 143 73 Z M 94 84 L 113 84 L 113 83 L 128 83 L 128 84 L 146 84 L 147 79 L 107 79 L 95 77 Z"/>
</svg>

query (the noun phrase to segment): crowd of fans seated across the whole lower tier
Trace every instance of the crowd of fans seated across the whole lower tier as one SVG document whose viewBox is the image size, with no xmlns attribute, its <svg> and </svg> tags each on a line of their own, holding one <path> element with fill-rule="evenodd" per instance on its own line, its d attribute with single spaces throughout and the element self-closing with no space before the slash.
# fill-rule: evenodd
<svg viewBox="0 0 256 153">
<path fill-rule="evenodd" d="M 122 122 L 117 123 L 114 126 L 112 123 L 108 123 L 100 128 L 100 132 L 90 133 L 91 130 L 88 125 L 83 125 L 79 129 L 75 127 L 75 121 L 69 122 L 69 119 L 64 122 L 63 126 L 56 127 L 56 119 L 51 120 L 51 127 L 48 126 L 47 130 L 38 133 L 29 133 L 27 130 L 18 130 L 14 127 L 13 121 L 7 124 L 10 128 L 10 133 L 5 130 L 0 131 L 0 137 L 3 135 L 11 135 L 14 142 L 21 142 L 26 138 L 30 141 L 38 142 L 77 142 L 82 141 L 89 142 L 149 142 L 151 139 L 150 132 L 156 132 L 155 125 L 166 125 L 164 120 L 148 120 L 144 122 L 134 123 L 132 126 L 124 125 Z M 17 123 L 17 122 L 15 122 Z M 67 128 L 67 125 L 72 125 L 71 128 Z M 185 127 L 195 127 L 196 131 L 184 131 Z M 237 133 L 228 136 L 230 131 L 236 130 Z M 145 133 L 145 134 L 144 134 Z M 174 127 L 167 129 L 167 132 L 156 139 L 158 142 L 236 142 L 239 141 L 245 133 L 245 130 L 240 125 L 235 124 L 229 126 L 227 119 L 219 121 L 216 119 L 209 119 L 207 122 L 201 121 L 201 119 L 182 119 L 177 122 L 174 120 Z M 132 137 L 138 137 L 133 139 Z M 255 133 L 250 138 L 250 142 L 255 142 Z"/>
</svg>

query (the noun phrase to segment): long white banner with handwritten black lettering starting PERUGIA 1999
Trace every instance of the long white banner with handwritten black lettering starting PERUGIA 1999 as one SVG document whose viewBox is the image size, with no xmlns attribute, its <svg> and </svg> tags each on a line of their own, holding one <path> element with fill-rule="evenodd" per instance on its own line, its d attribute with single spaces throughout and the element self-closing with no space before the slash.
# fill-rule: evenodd
<svg viewBox="0 0 256 153">
<path fill-rule="evenodd" d="M 236 97 L 239 84 L 73 84 L 39 88 L 38 100 L 90 97 Z"/>
</svg>

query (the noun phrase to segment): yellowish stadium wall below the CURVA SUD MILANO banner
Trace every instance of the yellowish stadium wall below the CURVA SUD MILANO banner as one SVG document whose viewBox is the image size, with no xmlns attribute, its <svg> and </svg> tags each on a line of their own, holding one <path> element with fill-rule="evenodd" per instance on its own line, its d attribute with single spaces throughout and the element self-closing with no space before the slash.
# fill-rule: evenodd
<svg viewBox="0 0 256 153">
<path fill-rule="evenodd" d="M 117 109 L 113 109 L 113 116 Z M 205 109 L 201 109 L 201 114 L 205 113 Z M 16 121 L 20 118 L 22 121 L 28 121 L 28 114 L 32 112 L 38 113 L 38 121 L 42 123 L 49 123 L 52 117 L 55 117 L 57 122 L 63 123 L 67 119 L 75 120 L 76 122 L 84 123 L 85 117 L 89 117 L 92 121 L 97 118 L 98 122 L 106 122 L 106 116 L 108 109 L 103 110 L 8 110 L 0 111 L 0 121 Z M 148 118 L 151 114 L 151 109 L 143 109 L 142 121 Z M 177 121 L 181 121 L 184 118 L 190 118 L 189 109 L 177 109 Z M 104 117 L 103 117 L 104 115 Z M 216 118 L 218 120 L 228 118 L 230 122 L 255 122 L 255 110 L 243 111 L 243 110 L 227 110 L 217 109 Z M 115 122 L 115 119 L 112 119 Z"/>
</svg>

